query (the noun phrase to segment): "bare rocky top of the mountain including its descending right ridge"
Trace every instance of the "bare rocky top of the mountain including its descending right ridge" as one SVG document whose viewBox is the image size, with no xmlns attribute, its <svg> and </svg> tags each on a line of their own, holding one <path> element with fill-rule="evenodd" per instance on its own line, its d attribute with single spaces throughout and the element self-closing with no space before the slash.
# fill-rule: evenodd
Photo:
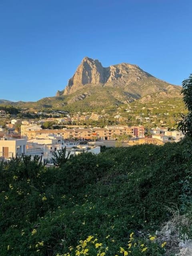
<svg viewBox="0 0 192 256">
<path fill-rule="evenodd" d="M 98 60 L 88 57 L 82 60 L 72 78 L 68 80 L 63 94 L 76 92 L 85 85 L 123 88 L 128 93 L 136 94 L 138 98 L 156 92 L 180 93 L 179 86 L 159 80 L 137 65 L 122 63 L 104 68 Z M 150 97 L 144 100 L 149 101 Z"/>
</svg>

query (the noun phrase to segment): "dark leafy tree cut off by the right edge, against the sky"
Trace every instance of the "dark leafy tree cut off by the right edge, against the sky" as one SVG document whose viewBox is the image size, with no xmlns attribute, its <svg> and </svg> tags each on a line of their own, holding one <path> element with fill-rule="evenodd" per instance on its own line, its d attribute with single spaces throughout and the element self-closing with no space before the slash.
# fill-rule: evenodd
<svg viewBox="0 0 192 256">
<path fill-rule="evenodd" d="M 192 138 L 192 74 L 182 82 L 181 94 L 183 94 L 183 101 L 186 109 L 188 109 L 188 114 L 182 115 L 178 130 Z"/>
</svg>

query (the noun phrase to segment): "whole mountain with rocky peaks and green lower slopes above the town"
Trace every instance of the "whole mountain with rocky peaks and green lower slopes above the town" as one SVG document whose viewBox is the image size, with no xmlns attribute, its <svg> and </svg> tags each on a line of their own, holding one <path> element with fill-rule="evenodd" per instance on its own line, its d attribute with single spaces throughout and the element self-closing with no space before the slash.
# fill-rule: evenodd
<svg viewBox="0 0 192 256">
<path fill-rule="evenodd" d="M 62 91 L 37 102 L 12 102 L 32 109 L 100 110 L 143 98 L 143 101 L 181 98 L 180 86 L 155 78 L 137 65 L 122 63 L 104 68 L 98 60 L 85 57 Z M 6 102 L 4 102 L 6 104 Z"/>
</svg>

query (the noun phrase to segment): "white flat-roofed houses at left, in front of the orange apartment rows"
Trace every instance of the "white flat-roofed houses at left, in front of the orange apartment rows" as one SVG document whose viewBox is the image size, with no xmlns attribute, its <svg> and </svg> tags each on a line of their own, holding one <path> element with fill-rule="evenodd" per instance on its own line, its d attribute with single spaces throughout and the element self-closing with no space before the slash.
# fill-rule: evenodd
<svg viewBox="0 0 192 256">
<path fill-rule="evenodd" d="M 11 159 L 16 156 L 35 155 L 42 156 L 52 164 L 54 152 L 66 147 L 66 154 L 78 155 L 82 152 L 100 153 L 100 146 L 81 145 L 75 140 L 63 140 L 61 136 L 48 134 L 46 138 L 35 138 L 32 140 L 17 139 L 12 137 L 0 138 L 0 159 Z"/>
</svg>

